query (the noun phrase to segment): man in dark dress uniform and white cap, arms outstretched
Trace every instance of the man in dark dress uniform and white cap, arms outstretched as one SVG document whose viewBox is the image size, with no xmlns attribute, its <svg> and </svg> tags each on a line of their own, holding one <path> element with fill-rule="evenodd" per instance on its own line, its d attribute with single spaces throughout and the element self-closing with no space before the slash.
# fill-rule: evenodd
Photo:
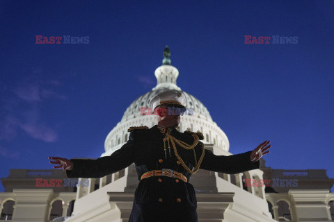
<svg viewBox="0 0 334 222">
<path fill-rule="evenodd" d="M 214 155 L 200 142 L 202 133 L 177 131 L 180 112 L 171 111 L 186 108 L 186 97 L 180 91 L 157 94 L 150 107 L 158 124 L 130 127 L 127 143 L 110 156 L 96 160 L 49 157 L 54 160 L 50 163 L 59 164 L 54 168 L 66 170 L 67 178 L 101 178 L 134 162 L 140 182 L 129 222 L 198 222 L 196 193 L 189 183 L 192 174 L 198 169 L 228 174 L 259 169 L 260 158 L 269 153 L 270 141 L 265 141 L 246 153 Z"/>
</svg>

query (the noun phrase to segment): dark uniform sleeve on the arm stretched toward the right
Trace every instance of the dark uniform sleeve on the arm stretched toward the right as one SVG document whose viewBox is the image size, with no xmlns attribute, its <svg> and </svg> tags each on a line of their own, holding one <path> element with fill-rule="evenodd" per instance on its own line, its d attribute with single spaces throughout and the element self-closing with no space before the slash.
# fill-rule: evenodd
<svg viewBox="0 0 334 222">
<path fill-rule="evenodd" d="M 202 145 L 200 143 L 201 142 L 199 142 L 200 146 L 196 146 L 197 161 L 202 154 Z M 252 151 L 229 156 L 214 155 L 212 151 L 205 149 L 205 155 L 202 163 L 200 164 L 200 169 L 228 174 L 242 173 L 252 169 L 259 169 L 260 160 L 257 160 L 257 162 L 254 163 L 251 162 L 250 153 L 252 153 Z"/>
</svg>

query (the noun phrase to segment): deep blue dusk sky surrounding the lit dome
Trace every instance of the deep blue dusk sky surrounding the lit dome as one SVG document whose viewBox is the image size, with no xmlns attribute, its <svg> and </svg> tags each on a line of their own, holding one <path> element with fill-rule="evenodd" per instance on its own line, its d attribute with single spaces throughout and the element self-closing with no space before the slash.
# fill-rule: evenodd
<svg viewBox="0 0 334 222">
<path fill-rule="evenodd" d="M 127 106 L 156 85 L 166 45 L 177 85 L 207 107 L 231 153 L 270 139 L 267 167 L 334 178 L 333 11 L 320 0 L 1 1 L 0 178 L 52 169 L 48 156 L 100 157 Z"/>
</svg>

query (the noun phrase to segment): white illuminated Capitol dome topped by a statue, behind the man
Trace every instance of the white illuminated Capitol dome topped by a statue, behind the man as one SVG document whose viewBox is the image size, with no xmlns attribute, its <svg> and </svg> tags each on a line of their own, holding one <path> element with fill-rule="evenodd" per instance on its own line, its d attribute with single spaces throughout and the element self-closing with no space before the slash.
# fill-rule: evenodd
<svg viewBox="0 0 334 222">
<path fill-rule="evenodd" d="M 150 99 L 152 99 L 156 94 L 166 89 L 177 89 L 182 91 L 182 89 L 176 84 L 179 71 L 170 65 L 170 51 L 168 46 L 166 46 L 164 50 L 163 65 L 154 71 L 154 75 L 157 78 L 157 85 L 152 88 L 150 92 L 139 96 L 129 105 L 127 110 L 125 110 L 120 122 L 117 123 L 117 125 L 106 137 L 106 141 L 104 142 L 105 153 L 103 153 L 102 156 L 111 155 L 111 153 L 118 150 L 123 144 L 125 144 L 125 142 L 127 142 L 129 137 L 127 129 L 129 127 L 148 126 L 151 128 L 157 124 L 157 120 L 154 115 L 141 114 L 141 108 L 149 108 L 148 104 Z M 205 137 L 205 139 L 202 140 L 204 144 L 214 144 L 219 148 L 228 151 L 228 137 L 212 120 L 212 117 L 205 105 L 188 92 L 182 92 L 186 96 L 186 108 L 192 109 L 193 114 L 182 115 L 180 124 L 177 126 L 177 130 L 180 132 L 184 132 L 184 130 L 201 132 Z"/>
</svg>

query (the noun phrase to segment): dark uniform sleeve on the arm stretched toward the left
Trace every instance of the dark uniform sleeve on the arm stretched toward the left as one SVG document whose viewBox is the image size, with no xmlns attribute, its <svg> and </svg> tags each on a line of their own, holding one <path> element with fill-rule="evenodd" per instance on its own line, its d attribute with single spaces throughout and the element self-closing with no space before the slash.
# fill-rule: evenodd
<svg viewBox="0 0 334 222">
<path fill-rule="evenodd" d="M 135 157 L 136 142 L 134 132 L 131 132 L 127 143 L 109 156 L 89 160 L 70 159 L 73 162 L 73 169 L 66 170 L 66 176 L 67 178 L 102 178 L 129 167 Z"/>
</svg>

